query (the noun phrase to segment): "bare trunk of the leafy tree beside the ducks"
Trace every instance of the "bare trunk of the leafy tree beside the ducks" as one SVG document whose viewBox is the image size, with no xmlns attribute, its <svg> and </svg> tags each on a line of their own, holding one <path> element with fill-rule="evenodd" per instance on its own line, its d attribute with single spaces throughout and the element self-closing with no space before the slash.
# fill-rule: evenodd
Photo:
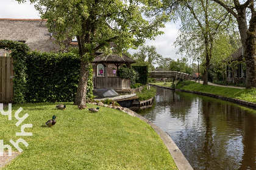
<svg viewBox="0 0 256 170">
<path fill-rule="evenodd" d="M 86 91 L 87 91 L 87 82 L 88 82 L 88 66 L 91 63 L 86 63 L 85 61 L 81 61 L 80 64 L 80 72 L 79 72 L 79 83 L 76 92 L 76 100 L 74 101 L 74 105 L 85 105 L 86 103 Z"/>
</svg>

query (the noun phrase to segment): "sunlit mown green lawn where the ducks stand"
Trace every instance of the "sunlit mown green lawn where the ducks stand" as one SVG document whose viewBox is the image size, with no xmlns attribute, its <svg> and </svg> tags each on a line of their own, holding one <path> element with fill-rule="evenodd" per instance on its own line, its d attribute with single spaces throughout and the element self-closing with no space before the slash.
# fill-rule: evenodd
<svg viewBox="0 0 256 170">
<path fill-rule="evenodd" d="M 29 143 L 20 143 L 24 151 L 2 169 L 177 169 L 160 137 L 137 117 L 108 107 L 91 114 L 71 103 L 65 103 L 66 110 L 56 110 L 57 104 L 13 104 L 12 120 L 0 114 L 4 144 L 12 146 L 9 140 L 18 138 Z M 14 114 L 20 107 L 19 117 L 29 117 L 16 127 Z M 57 123 L 46 127 L 52 115 Z M 32 136 L 15 136 L 23 124 L 33 124 L 24 129 Z"/>
</svg>

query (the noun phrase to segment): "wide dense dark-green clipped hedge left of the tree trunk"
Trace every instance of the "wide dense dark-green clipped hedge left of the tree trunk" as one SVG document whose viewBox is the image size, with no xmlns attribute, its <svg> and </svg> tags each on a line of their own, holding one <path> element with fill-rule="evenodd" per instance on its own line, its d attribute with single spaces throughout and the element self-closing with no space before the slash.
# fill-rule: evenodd
<svg viewBox="0 0 256 170">
<path fill-rule="evenodd" d="M 32 52 L 26 64 L 27 102 L 74 101 L 80 69 L 74 53 Z"/>
</svg>

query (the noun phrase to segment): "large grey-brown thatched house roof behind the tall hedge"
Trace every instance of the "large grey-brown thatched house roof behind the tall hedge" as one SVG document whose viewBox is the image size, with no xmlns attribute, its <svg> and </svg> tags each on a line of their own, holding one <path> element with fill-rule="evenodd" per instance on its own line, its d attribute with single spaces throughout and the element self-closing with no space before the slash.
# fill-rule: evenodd
<svg viewBox="0 0 256 170">
<path fill-rule="evenodd" d="M 42 19 L 0 19 L 0 39 L 23 41 L 31 50 L 40 52 L 59 52 L 60 46 L 55 44 Z"/>
</svg>

